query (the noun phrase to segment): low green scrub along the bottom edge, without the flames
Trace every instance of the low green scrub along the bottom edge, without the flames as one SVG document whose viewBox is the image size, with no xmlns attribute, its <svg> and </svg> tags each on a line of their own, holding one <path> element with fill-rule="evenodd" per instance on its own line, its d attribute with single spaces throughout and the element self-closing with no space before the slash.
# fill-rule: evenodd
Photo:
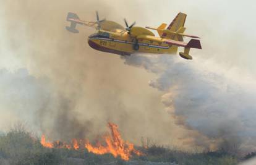
<svg viewBox="0 0 256 165">
<path fill-rule="evenodd" d="M 231 147 L 233 149 L 234 147 Z M 234 151 L 234 150 L 233 150 Z M 143 149 L 143 156 L 134 156 L 131 160 L 144 164 L 150 162 L 177 163 L 180 165 L 205 165 L 220 164 L 233 165 L 238 163 L 238 158 L 230 152 L 205 152 L 185 153 L 170 150 L 163 146 L 152 145 Z M 248 154 L 244 159 L 255 156 Z M 64 148 L 44 148 L 40 140 L 33 138 L 31 133 L 24 129 L 13 129 L 0 135 L 0 164 L 8 161 L 8 164 L 32 165 L 32 164 L 127 164 L 121 158 L 114 158 L 112 154 L 97 155 L 88 153 L 85 149 L 68 150 Z M 137 160 L 137 161 L 135 161 Z M 131 161 L 132 162 L 132 161 Z"/>
</svg>

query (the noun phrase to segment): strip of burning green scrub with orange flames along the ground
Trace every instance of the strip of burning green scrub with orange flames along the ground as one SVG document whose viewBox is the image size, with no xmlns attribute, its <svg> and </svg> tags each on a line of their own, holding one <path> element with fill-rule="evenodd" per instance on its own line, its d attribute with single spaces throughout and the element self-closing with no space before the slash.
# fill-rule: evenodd
<svg viewBox="0 0 256 165">
<path fill-rule="evenodd" d="M 111 131 L 102 137 L 102 143 L 95 145 L 82 139 L 73 139 L 69 143 L 48 142 L 44 135 L 41 139 L 35 138 L 33 133 L 18 127 L 0 134 L 0 164 L 234 165 L 255 156 L 255 153 L 238 156 L 225 150 L 188 153 L 159 145 L 145 148 L 143 144 L 142 153 L 122 140 L 117 125 L 109 123 L 108 127 Z"/>
</svg>

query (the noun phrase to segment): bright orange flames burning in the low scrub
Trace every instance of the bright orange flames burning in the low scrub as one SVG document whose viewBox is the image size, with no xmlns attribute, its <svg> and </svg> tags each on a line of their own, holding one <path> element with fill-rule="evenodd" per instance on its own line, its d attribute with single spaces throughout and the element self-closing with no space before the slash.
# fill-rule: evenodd
<svg viewBox="0 0 256 165">
<path fill-rule="evenodd" d="M 94 154 L 106 154 L 111 153 L 115 158 L 120 156 L 122 159 L 128 161 L 132 154 L 137 154 L 141 156 L 143 153 L 134 148 L 134 144 L 124 141 L 121 138 L 121 134 L 118 131 L 116 124 L 108 123 L 110 129 L 110 134 L 103 136 L 103 143 L 97 142 L 96 145 L 93 145 L 86 139 L 72 139 L 72 142 L 46 142 L 45 135 L 41 136 L 41 145 L 46 148 L 67 148 L 67 149 L 85 149 Z"/>
</svg>

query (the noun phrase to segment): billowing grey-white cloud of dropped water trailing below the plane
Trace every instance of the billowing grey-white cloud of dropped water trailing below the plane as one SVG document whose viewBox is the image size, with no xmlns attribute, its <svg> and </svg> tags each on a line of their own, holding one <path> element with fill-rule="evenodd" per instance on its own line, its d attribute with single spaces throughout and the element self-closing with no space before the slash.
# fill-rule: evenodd
<svg viewBox="0 0 256 165">
<path fill-rule="evenodd" d="M 217 145 L 236 139 L 237 148 L 239 143 L 244 148 L 250 143 L 254 144 L 250 149 L 255 150 L 255 80 L 248 82 L 242 75 L 242 82 L 229 79 L 221 69 L 211 70 L 199 59 L 188 62 L 165 55 L 134 55 L 124 63 L 159 75 L 149 85 L 167 92 L 162 102 L 166 111 L 176 117 L 176 124 L 216 139 Z"/>
</svg>

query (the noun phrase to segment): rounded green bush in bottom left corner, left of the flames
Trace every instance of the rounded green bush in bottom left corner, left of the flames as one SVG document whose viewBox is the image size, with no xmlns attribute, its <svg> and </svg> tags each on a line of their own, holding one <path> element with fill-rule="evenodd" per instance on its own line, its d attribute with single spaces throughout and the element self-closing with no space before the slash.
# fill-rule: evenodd
<svg viewBox="0 0 256 165">
<path fill-rule="evenodd" d="M 24 129 L 13 129 L 0 137 L 0 154 L 11 164 L 58 164 L 61 156 L 43 148 L 38 139 Z"/>
</svg>

